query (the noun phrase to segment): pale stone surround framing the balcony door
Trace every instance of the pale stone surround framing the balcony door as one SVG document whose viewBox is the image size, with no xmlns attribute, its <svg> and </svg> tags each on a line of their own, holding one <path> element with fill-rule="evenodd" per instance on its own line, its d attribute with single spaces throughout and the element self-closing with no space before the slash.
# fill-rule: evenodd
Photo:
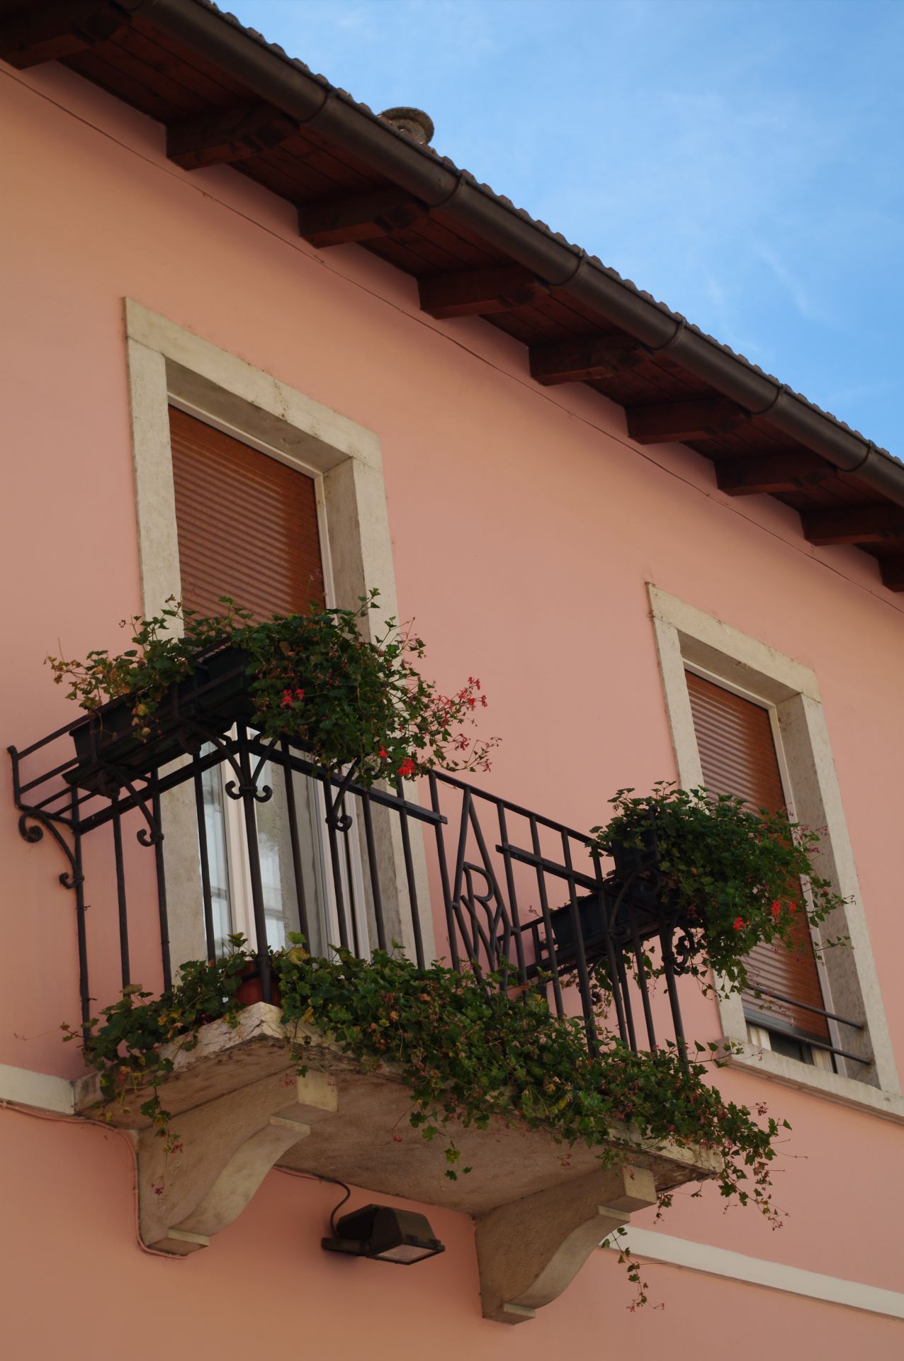
<svg viewBox="0 0 904 1361">
<path fill-rule="evenodd" d="M 374 629 L 379 629 L 379 621 L 397 614 L 378 436 L 132 298 L 125 298 L 124 304 L 145 615 L 158 614 L 169 597 L 178 599 L 181 595 L 169 422 L 169 407 L 178 406 L 314 478 L 328 603 L 353 608 L 360 596 L 377 587 L 381 608 L 364 621 L 364 629 L 372 634 Z M 170 798 L 181 792 L 174 789 Z M 406 789 L 406 798 L 417 802 L 413 787 Z M 398 940 L 413 957 L 413 930 L 406 920 L 405 860 L 397 822 L 392 813 L 374 808 L 386 936 Z M 185 825 L 189 830 L 193 827 L 189 817 Z M 412 836 L 412 852 L 424 953 L 430 961 L 435 955 L 435 943 L 423 847 L 417 836 Z M 173 860 L 185 871 L 186 883 L 186 891 L 170 896 L 174 957 L 200 957 L 198 950 L 203 953 L 204 946 L 197 938 L 197 894 L 189 871 L 189 866 L 197 862 L 197 847 L 193 833 L 179 834 L 178 826 L 171 825 L 167 829 L 167 864 Z M 401 906 L 394 911 L 397 905 Z M 374 932 L 371 936 L 375 939 Z"/>
</svg>

